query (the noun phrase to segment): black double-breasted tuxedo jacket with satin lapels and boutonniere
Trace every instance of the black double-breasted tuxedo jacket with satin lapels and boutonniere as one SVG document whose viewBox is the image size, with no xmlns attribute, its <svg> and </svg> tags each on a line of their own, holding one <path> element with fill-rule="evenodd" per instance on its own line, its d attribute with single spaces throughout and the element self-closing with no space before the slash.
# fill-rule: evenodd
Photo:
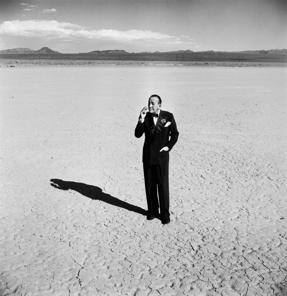
<svg viewBox="0 0 287 296">
<path fill-rule="evenodd" d="M 169 161 L 169 151 L 177 142 L 179 132 L 172 113 L 161 110 L 155 126 L 152 115 L 148 112 L 143 123 L 137 123 L 134 135 L 140 138 L 145 133 L 142 162 L 159 165 Z M 169 151 L 161 148 L 169 147 Z"/>
</svg>

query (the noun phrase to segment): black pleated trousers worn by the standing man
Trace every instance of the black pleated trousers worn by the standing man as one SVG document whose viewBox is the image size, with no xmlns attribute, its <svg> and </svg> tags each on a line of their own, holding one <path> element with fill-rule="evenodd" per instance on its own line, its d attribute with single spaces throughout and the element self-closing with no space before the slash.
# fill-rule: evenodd
<svg viewBox="0 0 287 296">
<path fill-rule="evenodd" d="M 169 217 L 169 162 L 160 165 L 143 163 L 145 194 L 149 214 L 159 213 Z"/>
</svg>

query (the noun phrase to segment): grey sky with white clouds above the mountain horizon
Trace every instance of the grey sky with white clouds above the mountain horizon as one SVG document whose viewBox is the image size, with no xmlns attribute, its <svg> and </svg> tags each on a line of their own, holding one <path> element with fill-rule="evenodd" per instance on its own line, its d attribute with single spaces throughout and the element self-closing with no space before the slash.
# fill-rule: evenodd
<svg viewBox="0 0 287 296">
<path fill-rule="evenodd" d="M 0 50 L 287 48 L 287 0 L 0 0 Z"/>
</svg>

